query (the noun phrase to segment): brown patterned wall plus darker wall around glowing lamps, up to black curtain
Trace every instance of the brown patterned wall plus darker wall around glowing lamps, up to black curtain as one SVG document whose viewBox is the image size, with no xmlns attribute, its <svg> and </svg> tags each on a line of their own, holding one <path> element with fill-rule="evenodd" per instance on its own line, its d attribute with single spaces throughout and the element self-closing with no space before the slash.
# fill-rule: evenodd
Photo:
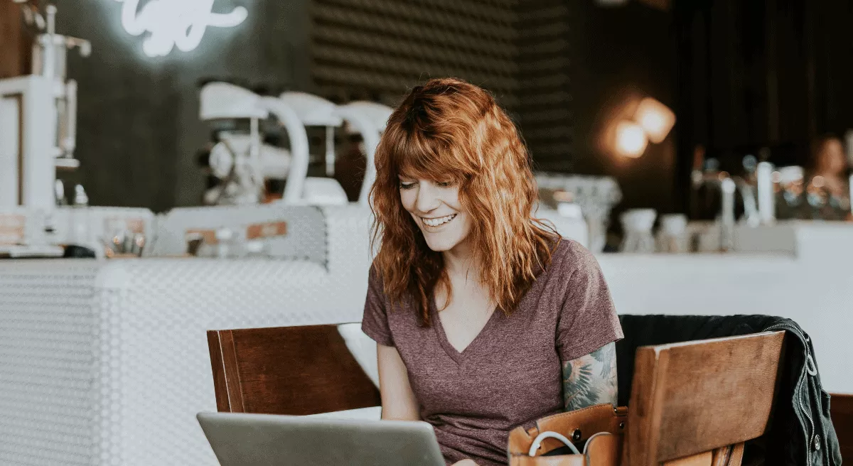
<svg viewBox="0 0 853 466">
<path fill-rule="evenodd" d="M 595 147 L 606 112 L 632 95 L 673 105 L 670 14 L 591 0 L 314 0 L 312 17 L 313 75 L 328 96 L 466 78 L 508 108 L 538 169 L 613 175 L 625 206 L 671 209 L 671 140 L 636 160 Z"/>
</svg>

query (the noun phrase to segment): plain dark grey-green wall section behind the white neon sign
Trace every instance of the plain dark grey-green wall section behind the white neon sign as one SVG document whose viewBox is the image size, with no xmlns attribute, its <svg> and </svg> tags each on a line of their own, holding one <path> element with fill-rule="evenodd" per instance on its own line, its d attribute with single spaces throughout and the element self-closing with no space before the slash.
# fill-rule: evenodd
<svg viewBox="0 0 853 466">
<path fill-rule="evenodd" d="M 70 60 L 79 84 L 80 181 L 92 204 L 165 210 L 200 204 L 204 176 L 195 154 L 210 130 L 198 118 L 200 79 L 307 90 L 307 0 L 218 0 L 215 11 L 244 5 L 233 29 L 208 28 L 198 49 L 142 54 L 142 37 L 120 26 L 121 3 L 57 0 L 57 29 L 89 39 L 92 56 Z M 144 4 L 144 3 L 143 3 Z"/>
</svg>

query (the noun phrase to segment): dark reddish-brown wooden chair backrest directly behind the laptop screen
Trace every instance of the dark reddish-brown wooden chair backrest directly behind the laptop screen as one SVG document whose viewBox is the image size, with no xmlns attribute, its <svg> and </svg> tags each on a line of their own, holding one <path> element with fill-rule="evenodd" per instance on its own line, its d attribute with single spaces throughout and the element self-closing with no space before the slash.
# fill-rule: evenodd
<svg viewBox="0 0 853 466">
<path fill-rule="evenodd" d="M 307 415 L 380 406 L 337 325 L 208 331 L 218 411 Z"/>
</svg>

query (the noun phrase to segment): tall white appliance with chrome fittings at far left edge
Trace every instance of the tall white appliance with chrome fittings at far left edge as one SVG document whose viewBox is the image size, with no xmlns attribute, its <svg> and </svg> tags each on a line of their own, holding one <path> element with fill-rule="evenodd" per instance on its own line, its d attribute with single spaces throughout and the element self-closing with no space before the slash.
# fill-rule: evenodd
<svg viewBox="0 0 853 466">
<path fill-rule="evenodd" d="M 38 30 L 32 75 L 0 79 L 0 208 L 52 209 L 56 169 L 77 168 L 74 158 L 77 83 L 67 79 L 67 50 L 88 56 L 88 41 L 55 32 L 56 7 L 22 3 Z M 45 19 L 46 18 L 46 19 Z"/>
</svg>

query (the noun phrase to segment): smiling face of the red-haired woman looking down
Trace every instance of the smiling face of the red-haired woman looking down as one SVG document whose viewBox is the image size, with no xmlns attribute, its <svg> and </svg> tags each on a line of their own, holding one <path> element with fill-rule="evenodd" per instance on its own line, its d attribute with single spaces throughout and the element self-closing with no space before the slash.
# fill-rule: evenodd
<svg viewBox="0 0 853 466">
<path fill-rule="evenodd" d="M 471 216 L 459 203 L 459 184 L 400 177 L 400 200 L 421 228 L 431 250 L 453 250 L 465 243 Z"/>
</svg>

